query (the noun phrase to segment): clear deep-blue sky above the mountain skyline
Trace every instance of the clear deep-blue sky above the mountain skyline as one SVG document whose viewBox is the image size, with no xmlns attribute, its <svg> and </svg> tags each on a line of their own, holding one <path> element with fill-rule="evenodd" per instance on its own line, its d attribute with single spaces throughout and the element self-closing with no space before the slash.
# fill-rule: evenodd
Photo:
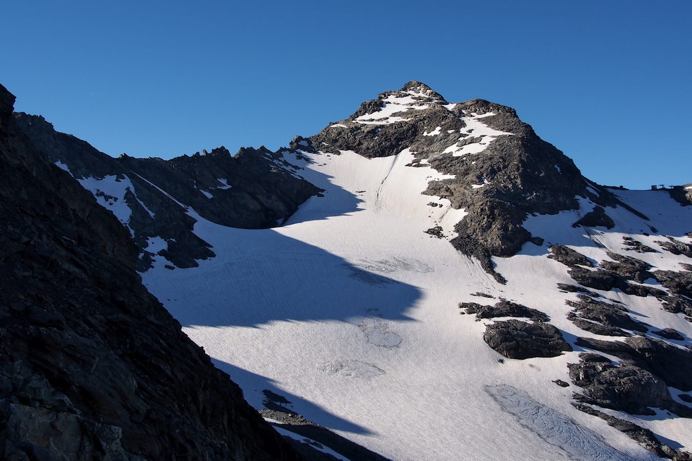
<svg viewBox="0 0 692 461">
<path fill-rule="evenodd" d="M 0 83 L 117 156 L 277 149 L 420 80 L 585 176 L 692 182 L 691 1 L 0 1 Z"/>
</svg>

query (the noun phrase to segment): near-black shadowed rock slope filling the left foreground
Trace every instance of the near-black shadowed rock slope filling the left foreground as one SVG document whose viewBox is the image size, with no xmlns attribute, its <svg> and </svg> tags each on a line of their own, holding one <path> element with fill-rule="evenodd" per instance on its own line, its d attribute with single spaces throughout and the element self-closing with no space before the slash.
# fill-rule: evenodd
<svg viewBox="0 0 692 461">
<path fill-rule="evenodd" d="M 15 125 L 0 86 L 0 453 L 298 455 L 136 274 L 125 227 Z"/>
</svg>

